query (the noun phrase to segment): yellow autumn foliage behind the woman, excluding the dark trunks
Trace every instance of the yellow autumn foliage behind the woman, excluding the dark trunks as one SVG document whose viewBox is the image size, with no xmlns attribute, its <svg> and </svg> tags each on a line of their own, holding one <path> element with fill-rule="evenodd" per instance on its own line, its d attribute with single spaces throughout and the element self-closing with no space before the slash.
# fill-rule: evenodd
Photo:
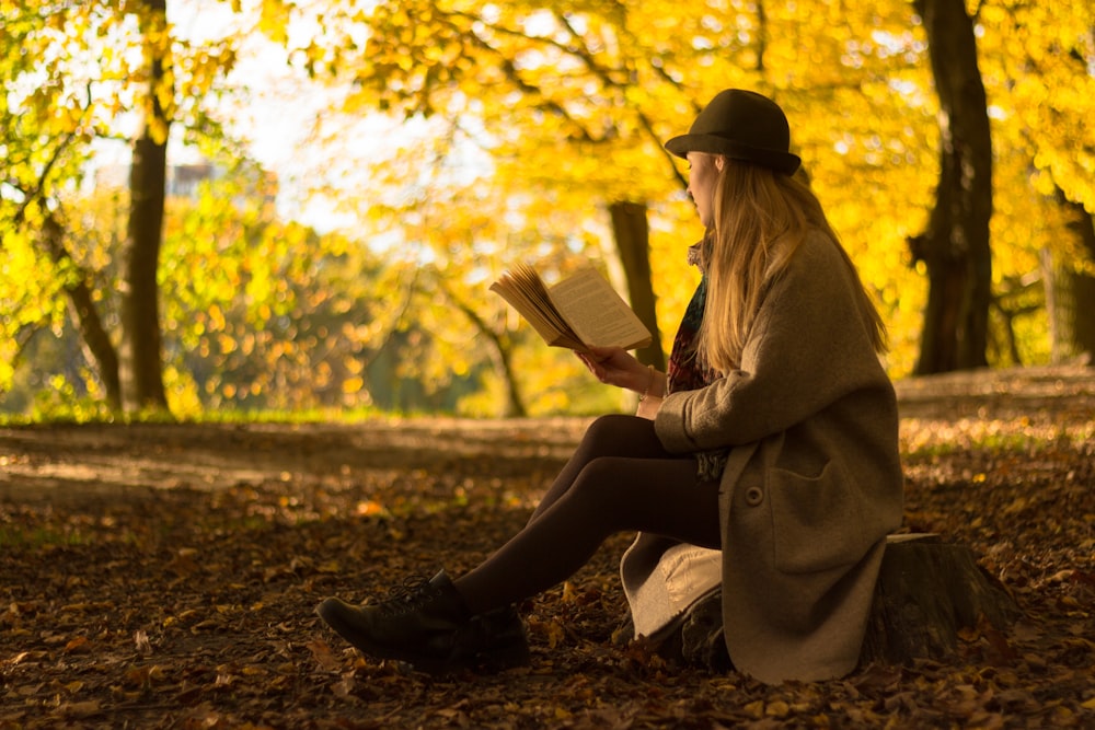
<svg viewBox="0 0 1095 730">
<path fill-rule="evenodd" d="M 128 200 L 80 181 L 92 141 L 131 135 L 150 103 L 145 54 L 171 60 L 154 93 L 172 128 L 232 166 L 244 140 L 227 131 L 228 78 L 269 42 L 326 85 L 301 177 L 354 223 L 320 235 L 279 220 L 263 175 L 170 202 L 159 281 L 176 403 L 358 407 L 401 402 L 385 391 L 408 387 L 403 379 L 422 391 L 415 403 L 474 414 L 500 412 L 515 389 L 530 413 L 622 405 L 486 287 L 516 262 L 552 277 L 592 259 L 623 289 L 607 210 L 641 202 L 668 347 L 695 281 L 684 250 L 701 231 L 684 166 L 661 142 L 726 86 L 786 109 L 890 327 L 887 366 L 912 369 L 926 282 L 907 240 L 934 204 L 940 140 L 925 36 L 903 0 L 212 0 L 234 22 L 193 43 L 170 22 L 139 33 L 129 7 L 0 0 L 0 387 L 28 332 L 65 329 L 64 285 L 78 271 L 105 318 L 116 312 Z M 1006 315 L 1021 359 L 1044 362 L 1047 252 L 1095 270 L 1060 205 L 1095 211 L 1095 10 L 967 7 L 992 123 L 994 293 L 1014 304 L 996 340 Z M 41 235 L 61 213 L 66 266 Z M 1008 363 L 996 349 L 991 361 Z"/>
</svg>

